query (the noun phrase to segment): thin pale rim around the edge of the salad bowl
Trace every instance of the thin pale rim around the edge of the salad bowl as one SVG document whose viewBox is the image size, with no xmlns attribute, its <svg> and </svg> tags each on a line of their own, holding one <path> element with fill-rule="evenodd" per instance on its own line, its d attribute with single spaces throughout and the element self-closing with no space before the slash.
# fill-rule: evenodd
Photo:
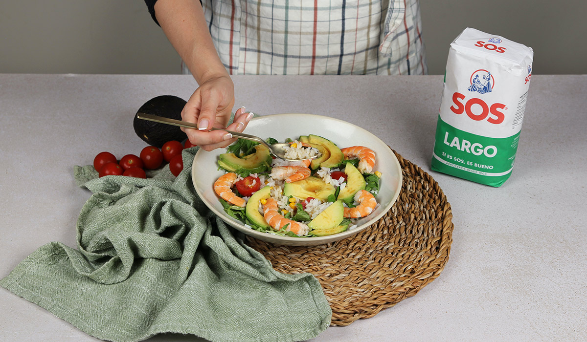
<svg viewBox="0 0 587 342">
<path fill-rule="evenodd" d="M 346 124 L 346 125 L 350 125 L 353 126 L 353 128 L 362 131 L 363 134 L 366 134 L 367 136 L 370 136 L 372 138 L 375 138 L 376 140 L 379 140 L 383 145 L 386 145 L 387 148 L 389 148 L 390 150 L 390 155 L 393 159 L 393 164 L 394 166 L 397 167 L 397 171 L 398 172 L 398 187 L 397 190 L 395 191 L 391 201 L 389 202 L 389 204 L 386 206 L 386 208 L 384 208 L 384 210 L 380 213 L 377 214 L 375 216 L 373 216 L 372 218 L 369 219 L 369 221 L 365 222 L 364 224 L 362 224 L 361 226 L 357 226 L 357 228 L 353 228 L 353 229 L 347 229 L 344 232 L 340 232 L 340 233 L 336 233 L 333 235 L 326 235 L 326 236 L 312 236 L 312 237 L 308 237 L 308 238 L 294 238 L 292 236 L 281 236 L 281 235 L 273 235 L 270 233 L 263 233 L 263 232 L 259 232 L 259 231 L 255 231 L 255 229 L 252 228 L 247 228 L 247 226 L 245 226 L 245 224 L 235 218 L 233 218 L 230 215 L 227 215 L 226 212 L 223 211 L 219 211 L 217 208 L 215 208 L 214 205 L 208 204 L 208 200 L 207 198 L 204 196 L 203 193 L 200 192 L 200 189 L 195 185 L 194 182 L 194 167 L 192 166 L 192 170 L 191 170 L 191 178 L 192 178 L 192 182 L 193 182 L 193 186 L 195 191 L 198 194 L 198 197 L 200 197 L 202 199 L 202 201 L 204 202 L 204 204 L 206 206 L 208 206 L 209 209 L 212 210 L 212 212 L 214 212 L 214 214 L 218 215 L 218 217 L 220 217 L 222 219 L 222 221 L 226 222 L 227 224 L 233 226 L 234 228 L 236 228 L 238 231 L 241 231 L 247 235 L 251 235 L 254 238 L 258 238 L 261 239 L 263 241 L 268 241 L 268 239 L 270 240 L 276 240 L 275 242 L 282 242 L 284 244 L 287 245 L 287 243 L 285 242 L 308 242 L 308 245 L 319 245 L 320 243 L 328 243 L 328 242 L 332 242 L 332 241 L 338 241 L 338 240 L 342 240 L 347 238 L 348 236 L 351 235 L 355 235 L 356 233 L 359 233 L 360 231 L 365 230 L 367 227 L 373 225 L 375 222 L 377 222 L 380 218 L 382 218 L 393 206 L 393 204 L 395 204 L 395 202 L 397 201 L 397 198 L 400 195 L 400 192 L 402 190 L 402 185 L 403 185 L 403 174 L 402 174 L 402 167 L 399 163 L 399 160 L 397 160 L 396 155 L 393 153 L 393 150 L 391 147 L 389 147 L 389 145 L 387 145 L 386 143 L 384 143 L 379 137 L 375 136 L 375 134 L 365 130 L 365 128 L 356 126 L 355 124 L 349 123 L 348 121 L 344 121 L 344 120 L 340 120 L 338 118 L 333 118 L 333 117 L 328 117 L 328 116 L 321 116 L 318 114 L 296 114 L 296 113 L 280 113 L 280 114 L 268 114 L 268 115 L 264 115 L 264 116 L 257 116 L 251 119 L 252 121 L 260 121 L 260 120 L 264 120 L 266 118 L 275 118 L 275 117 L 289 117 L 289 116 L 306 116 L 309 118 L 319 118 L 321 120 L 323 119 L 328 119 L 328 120 L 333 120 L 333 121 L 338 121 L 339 123 L 342 124 Z M 219 149 L 220 150 L 220 149 Z M 198 155 L 203 154 L 203 153 L 210 153 L 208 151 L 203 150 L 202 148 L 198 149 L 198 151 L 195 153 L 194 155 L 194 160 L 196 160 L 198 158 Z M 212 152 L 214 153 L 214 152 Z M 227 221 L 227 219 L 229 221 Z M 333 240 L 333 238 L 335 238 L 335 240 Z M 311 243 L 312 242 L 312 243 Z M 305 243 L 306 244 L 306 243 Z"/>
</svg>

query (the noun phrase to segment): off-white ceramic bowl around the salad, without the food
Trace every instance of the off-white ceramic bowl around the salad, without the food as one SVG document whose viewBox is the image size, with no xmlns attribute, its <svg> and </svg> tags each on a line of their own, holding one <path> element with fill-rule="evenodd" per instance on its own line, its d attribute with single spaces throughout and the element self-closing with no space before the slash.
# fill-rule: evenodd
<svg viewBox="0 0 587 342">
<path fill-rule="evenodd" d="M 346 121 L 312 114 L 274 114 L 256 117 L 251 120 L 245 130 L 248 134 L 262 138 L 275 138 L 284 141 L 286 138 L 298 138 L 308 134 L 325 137 L 338 147 L 362 145 L 371 148 L 376 154 L 375 171 L 382 173 L 379 194 L 375 197 L 380 205 L 370 215 L 356 222 L 357 227 L 342 233 L 315 238 L 292 238 L 268 233 L 261 233 L 246 228 L 237 219 L 227 215 L 212 189 L 212 184 L 224 171 L 218 169 L 218 155 L 225 149 L 207 152 L 199 150 L 194 157 L 191 177 L 197 194 L 210 209 L 220 218 L 239 231 L 262 241 L 280 245 L 312 246 L 339 241 L 367 228 L 380 219 L 392 207 L 402 188 L 402 170 L 393 151 L 379 138 Z"/>
</svg>

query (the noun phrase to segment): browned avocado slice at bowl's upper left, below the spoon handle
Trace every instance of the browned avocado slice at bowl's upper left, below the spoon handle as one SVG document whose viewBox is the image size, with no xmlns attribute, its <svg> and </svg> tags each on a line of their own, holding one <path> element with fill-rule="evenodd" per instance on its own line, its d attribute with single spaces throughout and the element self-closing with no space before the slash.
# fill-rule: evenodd
<svg viewBox="0 0 587 342">
<path fill-rule="evenodd" d="M 255 174 L 268 170 L 272 160 L 269 148 L 264 145 L 256 145 L 254 153 L 242 158 L 237 157 L 234 153 L 222 153 L 218 156 L 218 165 L 224 170 L 237 174 L 244 171 Z"/>
</svg>

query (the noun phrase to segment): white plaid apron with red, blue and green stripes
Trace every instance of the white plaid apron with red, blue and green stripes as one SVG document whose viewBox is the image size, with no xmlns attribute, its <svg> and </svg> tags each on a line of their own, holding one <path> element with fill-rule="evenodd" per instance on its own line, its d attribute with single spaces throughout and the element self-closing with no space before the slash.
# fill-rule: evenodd
<svg viewBox="0 0 587 342">
<path fill-rule="evenodd" d="M 427 73 L 418 0 L 202 4 L 214 45 L 231 75 Z"/>
</svg>

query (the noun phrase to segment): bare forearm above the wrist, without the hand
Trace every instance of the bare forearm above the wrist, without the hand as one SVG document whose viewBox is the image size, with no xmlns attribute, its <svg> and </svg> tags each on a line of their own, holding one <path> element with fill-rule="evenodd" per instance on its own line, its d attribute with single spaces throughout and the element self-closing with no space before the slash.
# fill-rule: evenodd
<svg viewBox="0 0 587 342">
<path fill-rule="evenodd" d="M 228 76 L 212 43 L 198 0 L 158 0 L 155 15 L 198 84 L 212 77 Z"/>
</svg>

